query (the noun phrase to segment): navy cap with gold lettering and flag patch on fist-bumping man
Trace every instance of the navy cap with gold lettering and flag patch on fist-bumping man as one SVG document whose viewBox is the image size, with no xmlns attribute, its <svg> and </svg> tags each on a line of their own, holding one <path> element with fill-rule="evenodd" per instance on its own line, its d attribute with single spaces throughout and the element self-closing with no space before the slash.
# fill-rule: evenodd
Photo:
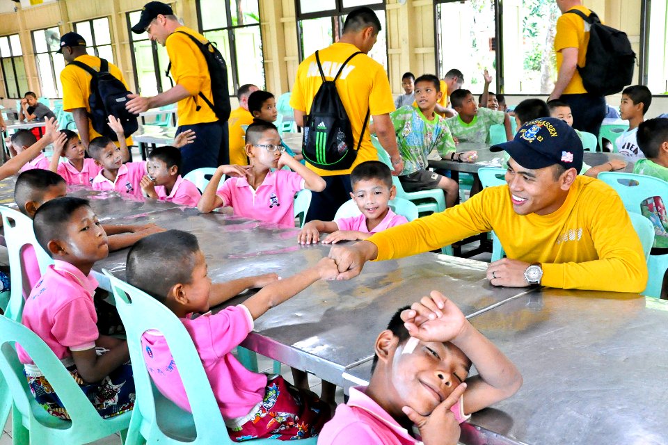
<svg viewBox="0 0 668 445">
<path fill-rule="evenodd" d="M 582 141 L 561 119 L 538 118 L 524 124 L 514 140 L 491 147 L 492 152 L 507 152 L 516 163 L 535 170 L 559 164 L 582 169 Z"/>
</svg>

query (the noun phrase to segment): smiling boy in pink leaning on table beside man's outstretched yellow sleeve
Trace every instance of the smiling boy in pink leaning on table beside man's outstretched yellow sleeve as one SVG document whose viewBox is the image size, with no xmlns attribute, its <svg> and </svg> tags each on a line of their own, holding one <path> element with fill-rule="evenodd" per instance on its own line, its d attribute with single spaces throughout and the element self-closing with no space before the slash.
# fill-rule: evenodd
<svg viewBox="0 0 668 445">
<path fill-rule="evenodd" d="M 325 244 L 363 240 L 376 232 L 408 223 L 388 206 L 388 202 L 395 199 L 397 189 L 392 185 L 392 172 L 387 165 L 379 161 L 360 163 L 353 168 L 350 183 L 353 188 L 350 197 L 362 213 L 335 221 L 309 221 L 297 236 L 299 243 L 319 242 L 320 232 L 329 234 L 322 240 Z"/>
</svg>

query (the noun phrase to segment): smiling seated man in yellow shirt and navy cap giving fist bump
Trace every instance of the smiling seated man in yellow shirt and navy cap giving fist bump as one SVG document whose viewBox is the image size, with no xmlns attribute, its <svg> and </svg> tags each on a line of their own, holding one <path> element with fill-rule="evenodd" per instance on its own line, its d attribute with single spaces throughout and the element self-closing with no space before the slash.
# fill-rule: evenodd
<svg viewBox="0 0 668 445">
<path fill-rule="evenodd" d="M 641 292 L 647 266 L 621 198 L 598 179 L 578 176 L 582 143 L 566 122 L 527 122 L 496 145 L 511 156 L 505 186 L 486 188 L 442 213 L 332 248 L 340 279 L 365 261 L 427 252 L 493 230 L 507 254 L 487 269 L 494 286 Z"/>
</svg>

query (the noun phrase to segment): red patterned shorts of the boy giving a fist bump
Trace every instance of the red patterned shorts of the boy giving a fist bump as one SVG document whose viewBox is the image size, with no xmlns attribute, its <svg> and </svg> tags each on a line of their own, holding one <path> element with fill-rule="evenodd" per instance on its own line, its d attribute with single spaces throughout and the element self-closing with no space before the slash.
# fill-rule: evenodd
<svg viewBox="0 0 668 445">
<path fill-rule="evenodd" d="M 296 440 L 316 437 L 331 418 L 331 409 L 312 392 L 304 393 L 280 375 L 267 382 L 267 391 L 255 418 L 228 429 L 237 442 L 250 439 Z"/>
</svg>

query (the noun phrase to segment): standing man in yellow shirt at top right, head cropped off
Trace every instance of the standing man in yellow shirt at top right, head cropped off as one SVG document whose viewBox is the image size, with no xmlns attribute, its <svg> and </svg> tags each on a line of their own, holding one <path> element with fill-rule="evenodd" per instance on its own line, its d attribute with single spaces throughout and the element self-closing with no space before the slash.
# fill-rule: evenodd
<svg viewBox="0 0 668 445">
<path fill-rule="evenodd" d="M 573 128 L 598 136 L 605 118 L 605 97 L 589 94 L 578 72 L 578 66 L 583 67 L 586 61 L 589 24 L 576 14 L 566 14 L 569 10 L 579 10 L 589 16 L 591 10 L 582 6 L 582 0 L 556 1 L 562 11 L 555 35 L 557 82 L 548 102 L 552 99 L 566 102 L 573 111 Z"/>
</svg>

